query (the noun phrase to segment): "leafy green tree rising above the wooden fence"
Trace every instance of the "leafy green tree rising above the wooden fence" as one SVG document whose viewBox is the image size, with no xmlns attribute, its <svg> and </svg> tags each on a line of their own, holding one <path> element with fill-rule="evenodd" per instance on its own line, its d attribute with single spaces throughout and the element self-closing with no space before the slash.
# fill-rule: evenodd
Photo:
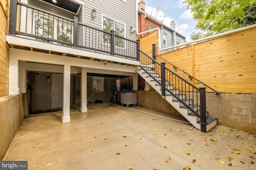
<svg viewBox="0 0 256 170">
<path fill-rule="evenodd" d="M 190 37 L 202 38 L 216 33 L 222 33 L 244 26 L 243 20 L 248 13 L 253 13 L 256 0 L 185 0 L 187 9 L 190 8 L 194 20 L 197 21 L 196 28 L 205 33 L 194 33 Z M 254 10 L 255 12 L 255 10 Z M 251 15 L 250 15 L 251 16 Z M 192 39 L 194 40 L 194 39 Z"/>
</svg>

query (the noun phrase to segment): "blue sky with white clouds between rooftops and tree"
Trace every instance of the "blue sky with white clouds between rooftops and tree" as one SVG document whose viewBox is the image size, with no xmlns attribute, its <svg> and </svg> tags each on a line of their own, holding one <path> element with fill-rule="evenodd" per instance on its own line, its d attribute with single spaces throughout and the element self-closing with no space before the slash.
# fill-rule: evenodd
<svg viewBox="0 0 256 170">
<path fill-rule="evenodd" d="M 199 32 L 195 29 L 196 21 L 193 20 L 191 11 L 184 0 L 144 0 L 146 2 L 145 12 L 152 17 L 164 21 L 164 25 L 170 26 L 171 21 L 175 21 L 176 30 L 183 35 L 187 35 L 186 41 L 191 41 L 189 35 L 192 32 Z"/>
</svg>

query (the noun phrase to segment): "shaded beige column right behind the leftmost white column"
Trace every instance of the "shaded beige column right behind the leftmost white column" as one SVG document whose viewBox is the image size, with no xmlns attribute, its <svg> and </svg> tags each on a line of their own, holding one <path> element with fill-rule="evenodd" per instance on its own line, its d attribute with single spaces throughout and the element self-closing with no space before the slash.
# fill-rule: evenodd
<svg viewBox="0 0 256 170">
<path fill-rule="evenodd" d="M 26 93 L 26 61 L 20 61 L 19 65 L 19 88 L 20 93 Z"/>
</svg>

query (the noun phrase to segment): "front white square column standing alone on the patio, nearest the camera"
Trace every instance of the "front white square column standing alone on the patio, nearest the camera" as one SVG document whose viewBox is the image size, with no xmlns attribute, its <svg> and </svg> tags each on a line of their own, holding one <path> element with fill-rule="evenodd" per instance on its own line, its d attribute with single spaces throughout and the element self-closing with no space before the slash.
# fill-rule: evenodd
<svg viewBox="0 0 256 170">
<path fill-rule="evenodd" d="M 63 70 L 63 109 L 62 123 L 70 122 L 70 65 Z"/>
</svg>

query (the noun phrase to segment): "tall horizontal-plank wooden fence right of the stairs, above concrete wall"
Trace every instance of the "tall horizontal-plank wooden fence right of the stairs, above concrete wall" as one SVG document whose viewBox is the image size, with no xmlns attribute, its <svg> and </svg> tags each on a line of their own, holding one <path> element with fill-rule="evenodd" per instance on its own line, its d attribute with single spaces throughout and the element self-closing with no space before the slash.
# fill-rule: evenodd
<svg viewBox="0 0 256 170">
<path fill-rule="evenodd" d="M 171 51 L 161 57 L 219 92 L 255 94 L 255 33 L 256 27 L 252 27 Z M 157 60 L 162 62 L 159 58 Z M 202 86 L 170 64 L 166 63 L 166 66 L 196 86 Z M 209 88 L 206 91 L 212 92 Z"/>
</svg>

